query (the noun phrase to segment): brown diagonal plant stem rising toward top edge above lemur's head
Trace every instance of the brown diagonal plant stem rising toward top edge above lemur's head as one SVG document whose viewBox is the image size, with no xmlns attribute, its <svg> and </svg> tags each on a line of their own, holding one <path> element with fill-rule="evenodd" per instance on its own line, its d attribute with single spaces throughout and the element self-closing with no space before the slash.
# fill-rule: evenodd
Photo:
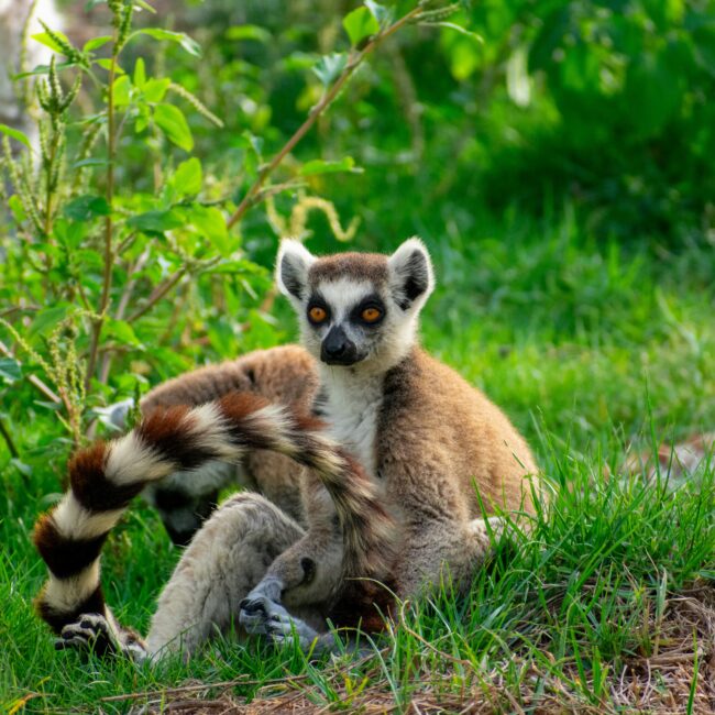
<svg viewBox="0 0 715 715">
<path fill-rule="evenodd" d="M 397 30 L 411 20 L 418 18 L 421 13 L 422 8 L 420 6 L 414 8 L 407 14 L 394 22 L 389 28 L 375 35 L 361 51 L 351 55 L 351 58 L 338 79 L 336 79 L 330 89 L 320 98 L 320 101 L 310 110 L 310 113 L 296 130 L 295 134 L 293 134 L 293 136 L 290 136 L 290 139 L 283 145 L 283 148 L 280 148 L 280 151 L 271 160 L 270 164 L 261 169 L 256 180 L 251 185 L 235 211 L 227 221 L 227 228 L 231 229 L 235 226 L 244 217 L 245 212 L 255 204 L 257 195 L 268 176 L 271 176 L 286 155 L 289 154 L 296 144 L 308 133 L 308 131 L 310 131 L 318 118 L 332 103 L 336 97 L 340 94 L 340 90 L 344 87 L 350 77 L 352 77 L 353 73 L 362 64 L 365 57 L 370 55 L 384 40 L 397 32 Z"/>
</svg>

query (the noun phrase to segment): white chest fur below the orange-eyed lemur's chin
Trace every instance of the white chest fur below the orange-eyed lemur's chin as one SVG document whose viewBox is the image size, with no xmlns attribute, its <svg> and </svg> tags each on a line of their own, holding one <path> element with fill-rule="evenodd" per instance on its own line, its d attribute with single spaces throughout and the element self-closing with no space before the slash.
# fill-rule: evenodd
<svg viewBox="0 0 715 715">
<path fill-rule="evenodd" d="M 344 369 L 322 371 L 318 410 L 330 435 L 376 473 L 376 430 L 383 404 L 383 375 L 365 377 Z"/>
</svg>

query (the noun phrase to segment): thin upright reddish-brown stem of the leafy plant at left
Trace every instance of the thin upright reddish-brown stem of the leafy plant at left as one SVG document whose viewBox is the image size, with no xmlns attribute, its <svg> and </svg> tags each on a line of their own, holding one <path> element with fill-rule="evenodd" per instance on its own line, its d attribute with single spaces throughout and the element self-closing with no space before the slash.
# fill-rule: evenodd
<svg viewBox="0 0 715 715">
<path fill-rule="evenodd" d="M 85 389 L 89 389 L 95 364 L 97 363 L 97 349 L 99 338 L 105 323 L 107 306 L 109 305 L 109 293 L 112 283 L 112 234 L 113 234 L 113 202 L 114 202 L 114 154 L 116 154 L 116 135 L 114 135 L 114 76 L 117 73 L 117 31 L 114 31 L 114 45 L 112 58 L 109 67 L 109 84 L 107 86 L 107 189 L 106 198 L 109 211 L 105 217 L 105 273 L 102 278 L 102 295 L 99 304 L 97 318 L 92 323 L 91 343 L 89 348 L 89 359 L 87 361 L 87 374 L 85 376 Z"/>
</svg>

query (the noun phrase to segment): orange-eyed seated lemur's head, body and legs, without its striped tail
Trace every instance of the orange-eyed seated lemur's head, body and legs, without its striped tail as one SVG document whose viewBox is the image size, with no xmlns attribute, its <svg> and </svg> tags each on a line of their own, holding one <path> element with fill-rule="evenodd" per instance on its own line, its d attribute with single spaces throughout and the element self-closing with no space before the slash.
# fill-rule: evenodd
<svg viewBox="0 0 715 715">
<path fill-rule="evenodd" d="M 321 258 L 285 240 L 276 275 L 298 315 L 302 345 L 318 366 L 314 410 L 367 482 L 358 480 L 361 498 L 338 504 L 336 512 L 336 490 L 326 491 L 310 472 L 304 475 L 311 529 L 301 542 L 312 542 L 302 552 L 320 558 L 297 561 L 289 544 L 304 531 L 267 499 L 243 494 L 220 507 L 160 597 L 147 637 L 152 654 L 177 641 L 190 652 L 237 613 L 251 634 L 329 647 L 327 615 L 340 625 L 352 607 L 371 619 L 367 604 L 358 607 L 350 602 L 354 593 L 340 591 L 344 584 L 336 583 L 337 573 L 370 575 L 399 598 L 418 595 L 448 574 L 463 586 L 488 553 L 492 532 L 503 528 L 502 519 L 485 519 L 484 513 L 504 508 L 528 516 L 534 510 L 538 484 L 529 477 L 537 466 L 526 441 L 482 393 L 417 343 L 419 314 L 435 284 L 419 240 L 406 241 L 391 256 Z M 129 450 L 127 458 L 135 471 Z M 371 499 L 378 505 L 374 513 L 363 508 Z M 342 517 L 342 539 L 336 515 Z M 341 571 L 343 558 L 351 565 Z M 278 562 L 289 578 L 276 574 Z M 50 593 L 41 604 L 52 606 Z M 338 602 L 330 597 L 334 593 L 341 594 Z M 72 606 L 66 608 L 72 618 L 54 624 L 64 627 L 58 628 L 63 645 L 82 646 L 111 629 Z M 308 617 L 301 618 L 306 607 Z"/>
</svg>

